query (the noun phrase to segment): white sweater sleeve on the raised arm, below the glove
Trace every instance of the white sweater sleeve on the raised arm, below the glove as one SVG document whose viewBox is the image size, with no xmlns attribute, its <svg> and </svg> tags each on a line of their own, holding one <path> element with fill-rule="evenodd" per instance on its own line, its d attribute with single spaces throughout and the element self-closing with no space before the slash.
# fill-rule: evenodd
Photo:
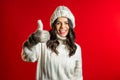
<svg viewBox="0 0 120 80">
<path fill-rule="evenodd" d="M 38 43 L 31 48 L 24 46 L 22 48 L 22 59 L 27 62 L 35 62 L 38 60 L 41 51 L 41 43 Z"/>
</svg>

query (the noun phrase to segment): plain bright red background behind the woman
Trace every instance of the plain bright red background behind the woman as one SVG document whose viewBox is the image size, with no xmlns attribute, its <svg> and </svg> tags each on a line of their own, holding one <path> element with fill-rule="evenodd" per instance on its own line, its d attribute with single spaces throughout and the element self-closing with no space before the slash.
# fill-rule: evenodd
<svg viewBox="0 0 120 80">
<path fill-rule="evenodd" d="M 76 42 L 82 48 L 84 80 L 120 80 L 120 1 L 0 0 L 0 80 L 35 80 L 36 63 L 21 59 L 24 40 L 58 5 L 76 18 Z"/>
</svg>

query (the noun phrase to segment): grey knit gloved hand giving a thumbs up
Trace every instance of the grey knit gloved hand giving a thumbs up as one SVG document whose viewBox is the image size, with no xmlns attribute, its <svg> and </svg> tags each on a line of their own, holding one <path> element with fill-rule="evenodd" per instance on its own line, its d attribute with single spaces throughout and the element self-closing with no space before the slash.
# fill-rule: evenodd
<svg viewBox="0 0 120 80">
<path fill-rule="evenodd" d="M 43 30 L 43 24 L 41 20 L 38 20 L 38 29 L 29 37 L 29 43 L 31 45 L 37 43 L 45 43 L 50 39 L 50 34 L 47 30 Z"/>
</svg>

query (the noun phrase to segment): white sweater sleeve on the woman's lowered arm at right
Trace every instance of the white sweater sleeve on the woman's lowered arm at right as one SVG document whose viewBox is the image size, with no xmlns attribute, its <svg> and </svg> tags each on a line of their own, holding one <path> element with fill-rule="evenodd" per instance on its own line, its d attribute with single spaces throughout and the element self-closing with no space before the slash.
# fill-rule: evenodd
<svg viewBox="0 0 120 80">
<path fill-rule="evenodd" d="M 81 56 L 81 48 L 77 45 L 77 50 L 75 53 L 76 63 L 74 69 L 74 77 L 72 80 L 83 80 L 82 75 L 82 56 Z"/>
</svg>

